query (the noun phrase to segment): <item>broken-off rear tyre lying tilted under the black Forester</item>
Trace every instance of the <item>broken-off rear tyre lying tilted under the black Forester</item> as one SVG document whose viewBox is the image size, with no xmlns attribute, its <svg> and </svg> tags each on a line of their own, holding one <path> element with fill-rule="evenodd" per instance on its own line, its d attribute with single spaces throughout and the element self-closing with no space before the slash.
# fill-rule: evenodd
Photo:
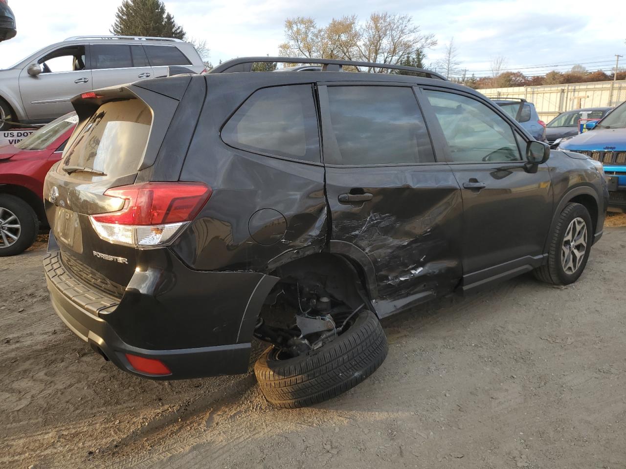
<svg viewBox="0 0 626 469">
<path fill-rule="evenodd" d="M 275 406 L 313 405 L 354 388 L 387 356 L 387 338 L 371 311 L 362 311 L 335 340 L 295 357 L 274 346 L 264 351 L 254 372 L 265 398 Z"/>
</svg>

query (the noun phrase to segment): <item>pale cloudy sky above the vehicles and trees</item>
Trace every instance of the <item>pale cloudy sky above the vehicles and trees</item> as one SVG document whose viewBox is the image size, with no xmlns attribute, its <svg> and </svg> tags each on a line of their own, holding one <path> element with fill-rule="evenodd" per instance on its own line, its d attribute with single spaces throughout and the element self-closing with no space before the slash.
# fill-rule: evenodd
<svg viewBox="0 0 626 469">
<path fill-rule="evenodd" d="M 0 68 L 69 36 L 110 34 L 121 0 L 9 0 L 18 35 L 0 43 Z M 209 60 L 277 55 L 284 42 L 284 21 L 310 16 L 319 25 L 332 18 L 387 11 L 408 14 L 438 46 L 427 51 L 427 63 L 443 57 L 453 38 L 460 69 L 487 76 L 491 61 L 506 58 L 506 68 L 527 75 L 572 64 L 609 71 L 615 54 L 626 56 L 624 0 L 593 3 L 572 0 L 166 0 L 165 7 L 188 36 L 206 40 Z M 626 65 L 626 57 L 621 59 Z M 620 64 L 621 68 L 621 64 Z"/>
</svg>

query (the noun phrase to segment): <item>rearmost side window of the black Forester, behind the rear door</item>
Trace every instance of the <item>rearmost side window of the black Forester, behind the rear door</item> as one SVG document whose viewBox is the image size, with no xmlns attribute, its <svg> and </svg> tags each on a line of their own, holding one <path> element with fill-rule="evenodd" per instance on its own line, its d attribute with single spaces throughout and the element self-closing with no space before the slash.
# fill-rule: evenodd
<svg viewBox="0 0 626 469">
<path fill-rule="evenodd" d="M 262 88 L 222 129 L 222 140 L 248 151 L 319 163 L 316 105 L 310 85 Z"/>
</svg>

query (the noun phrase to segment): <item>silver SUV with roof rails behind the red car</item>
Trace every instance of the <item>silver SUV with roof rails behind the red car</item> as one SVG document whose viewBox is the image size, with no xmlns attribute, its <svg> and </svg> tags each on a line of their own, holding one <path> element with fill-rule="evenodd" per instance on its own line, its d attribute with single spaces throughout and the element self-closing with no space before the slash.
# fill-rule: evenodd
<svg viewBox="0 0 626 469">
<path fill-rule="evenodd" d="M 70 99 L 92 89 L 167 75 L 168 66 L 202 73 L 193 47 L 180 39 L 76 36 L 0 70 L 0 130 L 8 122 L 44 124 L 73 111 Z"/>
</svg>

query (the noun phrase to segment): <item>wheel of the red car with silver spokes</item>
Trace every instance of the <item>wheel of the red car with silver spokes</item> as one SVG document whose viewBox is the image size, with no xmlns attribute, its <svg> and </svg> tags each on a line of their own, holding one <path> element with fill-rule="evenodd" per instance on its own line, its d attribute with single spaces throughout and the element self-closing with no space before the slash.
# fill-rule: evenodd
<svg viewBox="0 0 626 469">
<path fill-rule="evenodd" d="M 0 194 L 0 256 L 14 256 L 28 249 L 39 231 L 39 219 L 22 199 Z"/>
</svg>

